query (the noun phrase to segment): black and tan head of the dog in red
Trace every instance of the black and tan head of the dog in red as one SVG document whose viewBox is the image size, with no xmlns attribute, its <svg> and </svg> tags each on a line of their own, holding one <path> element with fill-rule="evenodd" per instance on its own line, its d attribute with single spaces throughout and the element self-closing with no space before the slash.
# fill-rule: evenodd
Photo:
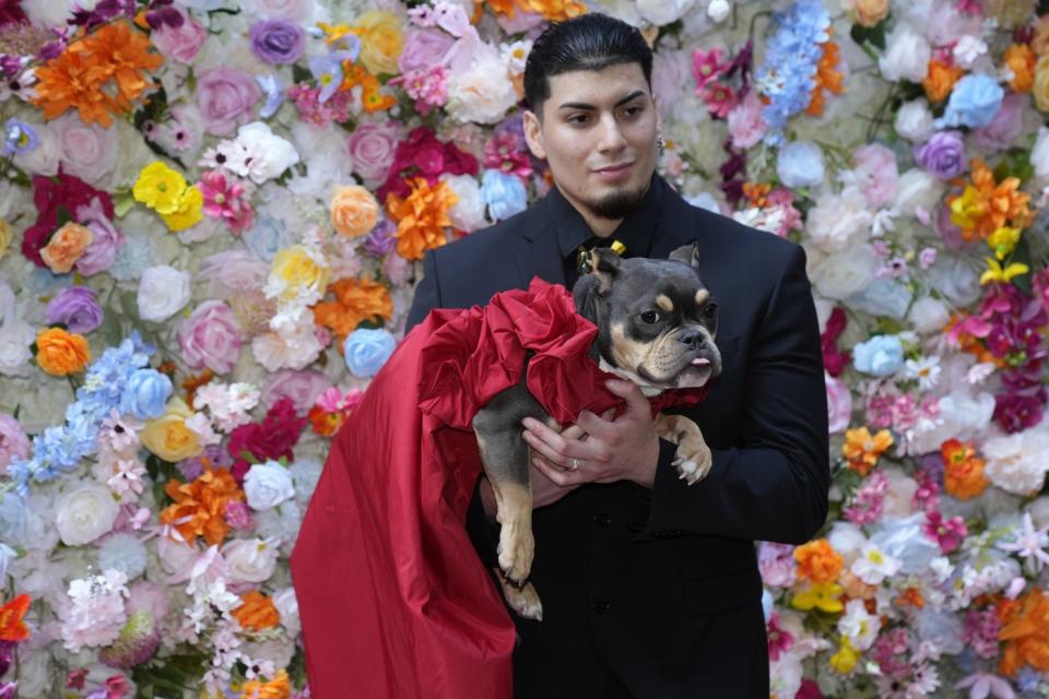
<svg viewBox="0 0 1049 699">
<path fill-rule="evenodd" d="M 590 260 L 573 298 L 598 327 L 603 364 L 653 389 L 697 388 L 721 374 L 714 343 L 718 305 L 699 279 L 698 246 L 679 248 L 668 260 L 622 260 L 596 248 Z"/>
</svg>

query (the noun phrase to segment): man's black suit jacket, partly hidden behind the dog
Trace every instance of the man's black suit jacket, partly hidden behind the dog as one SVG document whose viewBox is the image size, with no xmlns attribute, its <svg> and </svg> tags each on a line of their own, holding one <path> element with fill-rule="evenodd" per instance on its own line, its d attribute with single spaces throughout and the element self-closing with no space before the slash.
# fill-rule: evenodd
<svg viewBox="0 0 1049 699">
<path fill-rule="evenodd" d="M 765 699 L 754 541 L 801 544 L 826 518 L 826 392 L 803 250 L 691 206 L 659 178 L 653 186 L 665 191 L 651 257 L 698 241 L 719 305 L 722 375 L 683 411 L 703 429 L 714 467 L 686 486 L 663 442 L 651 490 L 589 485 L 535 511 L 532 582 L 544 617 L 515 619 L 519 698 L 611 696 L 611 673 L 638 698 Z M 549 209 L 542 200 L 429 251 L 409 325 L 535 275 L 563 284 Z"/>
</svg>

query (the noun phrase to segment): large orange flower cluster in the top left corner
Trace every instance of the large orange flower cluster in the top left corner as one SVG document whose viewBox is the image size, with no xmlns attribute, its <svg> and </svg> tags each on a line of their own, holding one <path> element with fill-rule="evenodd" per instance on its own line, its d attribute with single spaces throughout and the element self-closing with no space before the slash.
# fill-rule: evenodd
<svg viewBox="0 0 1049 699">
<path fill-rule="evenodd" d="M 107 24 L 37 69 L 34 103 L 47 119 L 76 109 L 84 123 L 109 128 L 110 115 L 131 111 L 153 85 L 142 71 L 158 69 L 164 59 L 150 52 L 151 46 L 126 22 Z"/>
</svg>

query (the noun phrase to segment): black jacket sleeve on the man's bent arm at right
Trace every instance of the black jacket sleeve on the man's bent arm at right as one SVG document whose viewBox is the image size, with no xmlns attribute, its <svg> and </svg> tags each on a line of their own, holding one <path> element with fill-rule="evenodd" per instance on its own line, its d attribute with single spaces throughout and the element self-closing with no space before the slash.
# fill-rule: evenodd
<svg viewBox="0 0 1049 699">
<path fill-rule="evenodd" d="M 739 448 L 714 450 L 706 478 L 688 486 L 663 442 L 641 536 L 681 534 L 801 544 L 824 524 L 829 487 L 827 395 L 820 328 L 792 247 L 755 331 Z"/>
</svg>

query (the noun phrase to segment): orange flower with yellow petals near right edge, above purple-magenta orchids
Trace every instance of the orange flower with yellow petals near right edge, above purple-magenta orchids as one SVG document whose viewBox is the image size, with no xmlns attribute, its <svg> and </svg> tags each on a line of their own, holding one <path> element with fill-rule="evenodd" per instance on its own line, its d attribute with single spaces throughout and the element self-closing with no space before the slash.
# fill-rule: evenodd
<svg viewBox="0 0 1049 699">
<path fill-rule="evenodd" d="M 960 194 L 947 197 L 951 222 L 962 228 L 967 241 L 983 239 L 1009 224 L 1025 228 L 1032 218 L 1030 196 L 1019 189 L 1019 178 L 994 181 L 994 173 L 980 158 L 973 158 L 973 183 Z"/>
</svg>

